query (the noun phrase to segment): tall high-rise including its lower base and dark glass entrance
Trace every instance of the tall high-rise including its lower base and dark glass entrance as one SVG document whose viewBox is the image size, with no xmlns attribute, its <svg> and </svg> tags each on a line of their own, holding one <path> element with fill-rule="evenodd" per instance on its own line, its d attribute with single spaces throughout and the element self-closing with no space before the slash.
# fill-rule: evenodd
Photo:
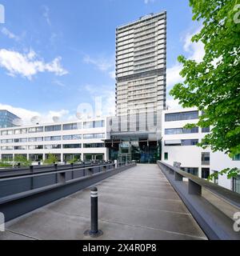
<svg viewBox="0 0 240 256">
<path fill-rule="evenodd" d="M 166 106 L 166 11 L 118 26 L 115 94 L 110 159 L 156 162 Z"/>
</svg>

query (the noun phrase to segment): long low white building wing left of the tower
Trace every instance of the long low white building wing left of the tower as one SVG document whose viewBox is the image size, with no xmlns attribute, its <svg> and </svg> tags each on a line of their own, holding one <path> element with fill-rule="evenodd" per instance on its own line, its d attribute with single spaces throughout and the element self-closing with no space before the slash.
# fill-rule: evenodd
<svg viewBox="0 0 240 256">
<path fill-rule="evenodd" d="M 38 162 L 54 154 L 59 162 L 107 160 L 106 136 L 106 118 L 0 129 L 0 159 L 23 155 Z"/>
</svg>

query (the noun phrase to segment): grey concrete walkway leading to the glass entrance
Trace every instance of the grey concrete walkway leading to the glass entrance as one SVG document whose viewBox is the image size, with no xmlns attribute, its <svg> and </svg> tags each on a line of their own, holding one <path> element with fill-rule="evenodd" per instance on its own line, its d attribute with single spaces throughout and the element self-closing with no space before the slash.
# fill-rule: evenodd
<svg viewBox="0 0 240 256">
<path fill-rule="evenodd" d="M 97 184 L 98 239 L 206 239 L 157 165 L 138 165 Z M 90 189 L 7 223 L 0 239 L 89 239 Z"/>
</svg>

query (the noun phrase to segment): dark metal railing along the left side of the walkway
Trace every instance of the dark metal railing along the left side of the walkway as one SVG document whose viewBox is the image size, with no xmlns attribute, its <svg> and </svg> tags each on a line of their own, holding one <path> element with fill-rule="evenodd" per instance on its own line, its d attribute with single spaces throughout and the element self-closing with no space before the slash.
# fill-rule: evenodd
<svg viewBox="0 0 240 256">
<path fill-rule="evenodd" d="M 0 179 L 0 212 L 5 215 L 6 221 L 10 221 L 135 165 L 135 162 L 109 163 L 2 178 Z"/>
</svg>

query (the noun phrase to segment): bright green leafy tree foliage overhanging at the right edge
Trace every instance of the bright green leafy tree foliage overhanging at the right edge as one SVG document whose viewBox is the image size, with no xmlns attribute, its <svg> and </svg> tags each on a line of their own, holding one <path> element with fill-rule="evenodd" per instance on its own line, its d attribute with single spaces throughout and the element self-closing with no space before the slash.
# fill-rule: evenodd
<svg viewBox="0 0 240 256">
<path fill-rule="evenodd" d="M 170 91 L 183 107 L 195 106 L 203 111 L 198 126 L 212 127 L 199 146 L 223 151 L 230 158 L 240 153 L 239 3 L 239 0 L 190 0 L 193 20 L 202 22 L 201 31 L 191 40 L 204 44 L 205 55 L 202 62 L 178 57 L 183 65 L 180 74 L 184 82 Z M 239 172 L 237 168 L 228 168 L 220 174 L 230 178 Z"/>
</svg>

